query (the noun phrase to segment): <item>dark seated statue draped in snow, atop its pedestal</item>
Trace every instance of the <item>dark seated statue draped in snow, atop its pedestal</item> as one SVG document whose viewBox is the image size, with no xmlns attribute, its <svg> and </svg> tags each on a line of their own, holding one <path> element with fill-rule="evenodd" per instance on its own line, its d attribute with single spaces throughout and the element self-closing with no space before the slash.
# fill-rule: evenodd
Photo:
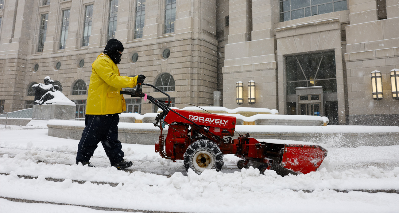
<svg viewBox="0 0 399 213">
<path fill-rule="evenodd" d="M 35 90 L 35 102 L 39 105 L 57 102 L 68 103 L 67 105 L 71 104 L 71 100 L 58 91 L 58 85 L 54 85 L 54 81 L 49 76 L 44 78 L 44 84 L 34 84 L 32 88 Z"/>
</svg>

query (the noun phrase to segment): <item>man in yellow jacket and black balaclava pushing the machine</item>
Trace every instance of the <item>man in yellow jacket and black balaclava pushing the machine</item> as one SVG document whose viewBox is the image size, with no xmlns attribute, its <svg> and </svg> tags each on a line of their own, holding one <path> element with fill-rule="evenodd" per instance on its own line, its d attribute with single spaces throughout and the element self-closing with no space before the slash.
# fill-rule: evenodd
<svg viewBox="0 0 399 213">
<path fill-rule="evenodd" d="M 86 127 L 79 141 L 76 164 L 94 167 L 89 162 L 97 144 L 101 141 L 111 166 L 126 169 L 131 161 L 123 159 L 122 144 L 118 140 L 119 114 L 126 110 L 126 102 L 120 94 L 122 88 L 133 88 L 144 82 L 143 75 L 120 76 L 117 64 L 122 56 L 123 45 L 111 39 L 104 52 L 91 65 L 89 94 L 86 105 Z"/>
</svg>

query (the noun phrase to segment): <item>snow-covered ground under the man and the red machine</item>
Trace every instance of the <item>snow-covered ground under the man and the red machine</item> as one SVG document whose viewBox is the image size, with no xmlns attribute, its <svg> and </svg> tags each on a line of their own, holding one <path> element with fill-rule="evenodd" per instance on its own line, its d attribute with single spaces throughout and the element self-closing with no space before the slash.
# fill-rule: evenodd
<svg viewBox="0 0 399 213">
<path fill-rule="evenodd" d="M 152 145 L 134 144 L 122 144 L 125 159 L 133 161 L 127 171 L 110 167 L 101 144 L 91 159 L 96 167 L 78 166 L 78 142 L 49 137 L 47 129 L 0 125 L 0 197 L 50 202 L 0 198 L 0 212 L 105 212 L 81 206 L 193 213 L 399 212 L 399 145 L 326 147 L 318 171 L 281 177 L 269 170 L 259 175 L 252 167 L 239 170 L 233 155 L 224 156 L 220 172 L 187 173 L 182 161 L 162 159 Z M 373 189 L 396 193 L 369 193 Z"/>
</svg>

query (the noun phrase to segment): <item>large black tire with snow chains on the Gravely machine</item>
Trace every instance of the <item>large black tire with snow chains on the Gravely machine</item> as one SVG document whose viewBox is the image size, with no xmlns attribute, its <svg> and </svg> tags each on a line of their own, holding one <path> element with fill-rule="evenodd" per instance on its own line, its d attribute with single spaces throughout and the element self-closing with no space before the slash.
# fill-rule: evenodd
<svg viewBox="0 0 399 213">
<path fill-rule="evenodd" d="M 183 156 L 184 168 L 186 169 L 186 171 L 188 171 L 188 169 L 191 168 L 197 174 L 202 173 L 202 171 L 198 169 L 199 163 L 194 165 L 194 163 L 196 163 L 196 160 L 194 160 L 193 163 L 193 158 L 196 156 L 196 154 L 198 156 L 201 153 L 204 153 L 210 158 L 208 160 L 209 164 L 207 165 L 207 167 L 204 167 L 203 169 L 216 169 L 216 171 L 220 171 L 220 169 L 223 166 L 223 153 L 220 151 L 219 146 L 217 146 L 215 143 L 213 143 L 208 139 L 199 139 L 198 141 L 195 141 L 194 143 L 188 146 Z M 209 165 L 211 165 L 211 167 Z"/>
</svg>

